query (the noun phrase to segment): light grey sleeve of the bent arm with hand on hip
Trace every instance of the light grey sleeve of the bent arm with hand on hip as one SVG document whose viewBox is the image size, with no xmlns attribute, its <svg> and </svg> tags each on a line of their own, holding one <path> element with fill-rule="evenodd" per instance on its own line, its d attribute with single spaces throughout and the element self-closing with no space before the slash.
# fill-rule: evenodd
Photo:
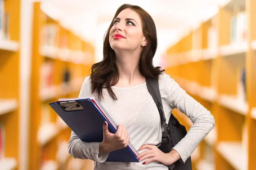
<svg viewBox="0 0 256 170">
<path fill-rule="evenodd" d="M 186 136 L 173 147 L 185 162 L 199 143 L 212 130 L 215 119 L 203 105 L 189 96 L 169 75 L 164 83 L 168 88 L 170 105 L 186 114 L 193 122 Z"/>
</svg>

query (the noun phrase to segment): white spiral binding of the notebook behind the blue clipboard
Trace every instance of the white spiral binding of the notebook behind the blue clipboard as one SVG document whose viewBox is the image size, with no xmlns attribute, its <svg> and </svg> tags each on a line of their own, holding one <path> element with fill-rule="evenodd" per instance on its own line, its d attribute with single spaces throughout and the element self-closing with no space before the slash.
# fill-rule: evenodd
<svg viewBox="0 0 256 170">
<path fill-rule="evenodd" d="M 111 123 L 111 125 L 117 130 L 117 125 L 116 122 L 111 118 L 110 114 L 106 111 L 106 109 L 102 106 L 102 104 L 99 102 L 99 100 L 96 97 L 91 98 L 94 100 L 96 105 L 99 107 L 99 109 L 102 111 L 104 116 L 108 119 L 108 121 Z M 128 143 L 128 147 L 132 150 L 132 152 L 136 155 L 139 156 L 138 151 L 134 148 L 134 146 L 131 144 L 131 142 Z"/>
</svg>

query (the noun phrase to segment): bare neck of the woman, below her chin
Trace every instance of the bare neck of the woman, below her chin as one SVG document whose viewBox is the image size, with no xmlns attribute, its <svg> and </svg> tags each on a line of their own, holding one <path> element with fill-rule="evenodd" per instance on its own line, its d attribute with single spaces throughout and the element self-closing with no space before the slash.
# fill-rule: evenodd
<svg viewBox="0 0 256 170">
<path fill-rule="evenodd" d="M 134 82 L 141 80 L 143 76 L 139 70 L 139 61 L 140 53 L 130 53 L 127 51 L 116 53 L 116 65 L 119 71 L 119 81 L 130 86 L 134 84 Z"/>
</svg>

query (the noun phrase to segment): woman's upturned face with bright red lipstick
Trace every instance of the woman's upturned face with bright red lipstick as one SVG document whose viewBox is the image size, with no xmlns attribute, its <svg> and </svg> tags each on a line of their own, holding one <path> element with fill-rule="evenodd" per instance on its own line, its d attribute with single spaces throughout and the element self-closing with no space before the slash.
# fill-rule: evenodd
<svg viewBox="0 0 256 170">
<path fill-rule="evenodd" d="M 140 16 L 134 10 L 122 10 L 113 21 L 109 34 L 109 43 L 114 51 L 135 51 L 145 46 Z"/>
</svg>

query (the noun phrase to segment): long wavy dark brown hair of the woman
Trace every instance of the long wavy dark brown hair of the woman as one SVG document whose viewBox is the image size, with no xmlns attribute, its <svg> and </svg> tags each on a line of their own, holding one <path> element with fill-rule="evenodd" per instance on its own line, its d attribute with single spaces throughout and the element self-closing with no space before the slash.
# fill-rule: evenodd
<svg viewBox="0 0 256 170">
<path fill-rule="evenodd" d="M 151 16 L 140 6 L 133 6 L 130 4 L 123 4 L 120 6 L 113 20 L 117 15 L 124 9 L 131 8 L 137 14 L 139 14 L 142 21 L 143 35 L 146 37 L 147 45 L 143 47 L 143 50 L 140 54 L 140 63 L 139 69 L 140 73 L 144 77 L 148 78 L 158 78 L 164 70 L 161 70 L 160 67 L 154 67 L 153 57 L 157 50 L 157 31 Z M 92 93 L 98 93 L 98 98 L 102 99 L 102 89 L 107 88 L 108 93 L 111 98 L 116 100 L 116 95 L 111 89 L 111 86 L 116 85 L 119 80 L 119 71 L 115 63 L 115 51 L 110 46 L 109 43 L 109 34 L 113 26 L 113 20 L 108 27 L 107 33 L 105 34 L 104 45 L 103 45 L 103 59 L 101 62 L 95 63 L 91 68 L 91 83 L 92 83 Z"/>
</svg>

